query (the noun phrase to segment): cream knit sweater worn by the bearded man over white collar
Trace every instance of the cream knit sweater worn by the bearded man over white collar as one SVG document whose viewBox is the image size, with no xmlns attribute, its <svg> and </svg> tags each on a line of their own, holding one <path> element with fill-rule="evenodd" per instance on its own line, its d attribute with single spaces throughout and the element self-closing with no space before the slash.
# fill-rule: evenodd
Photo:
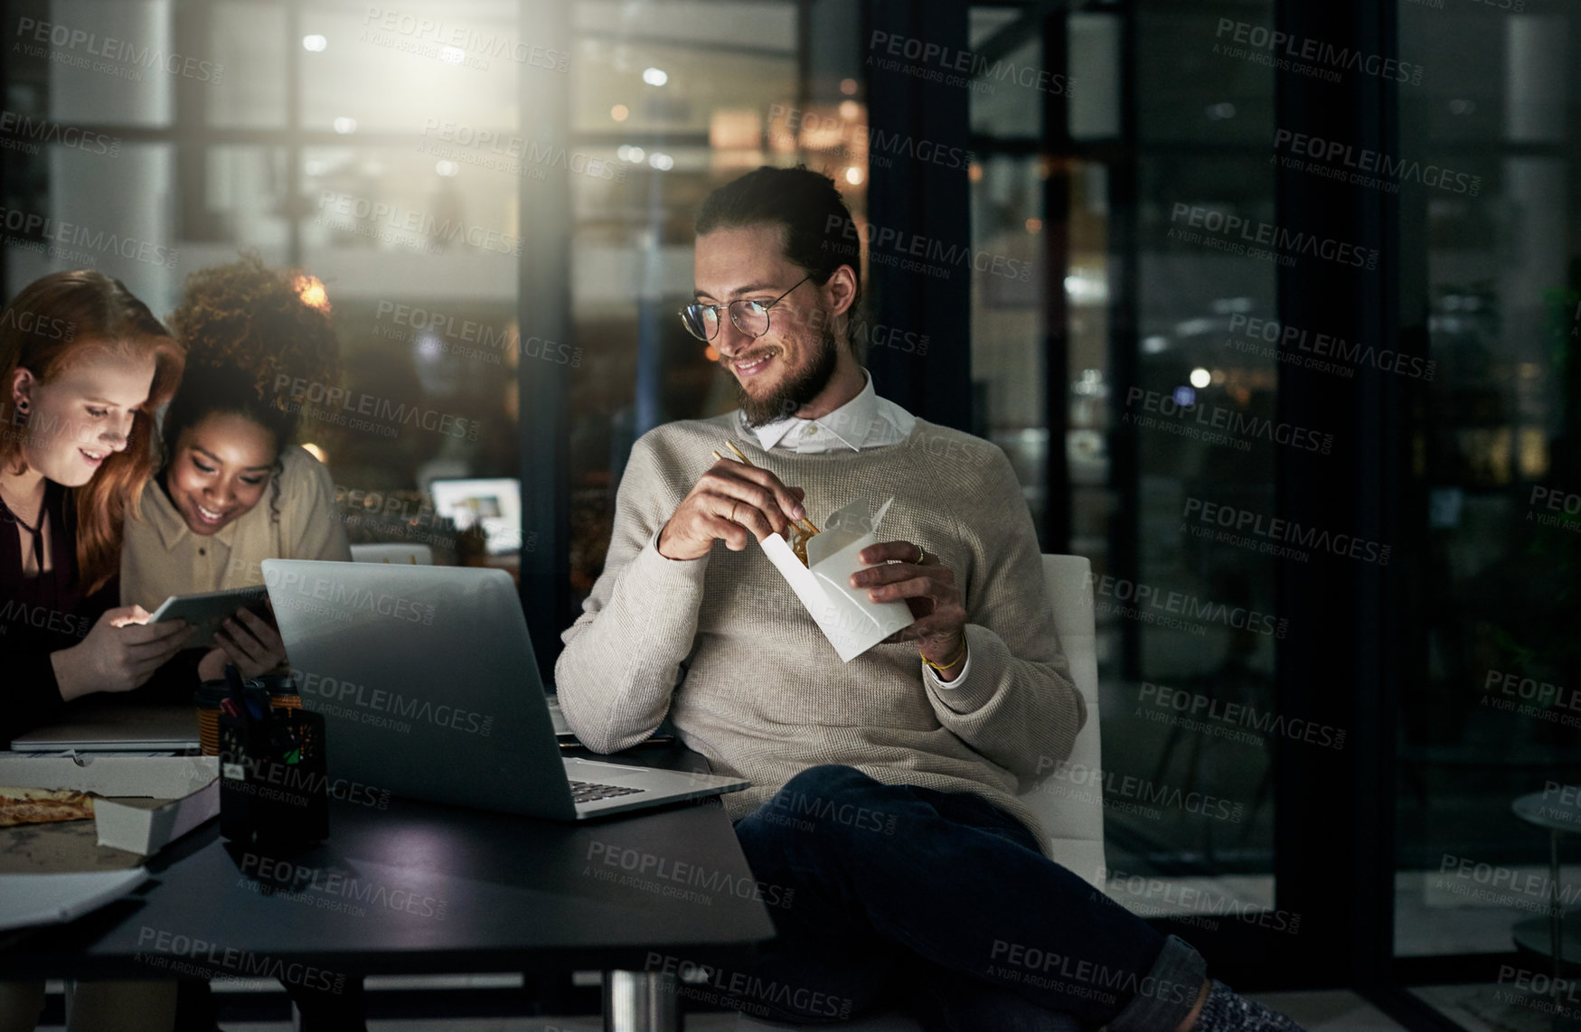
<svg viewBox="0 0 1581 1032">
<path fill-rule="evenodd" d="M 915 643 L 840 662 L 756 544 L 730 552 L 715 542 L 694 561 L 658 553 L 656 533 L 735 425 L 734 414 L 675 422 L 632 447 L 604 572 L 555 667 L 577 738 L 617 752 L 669 714 L 715 771 L 753 782 L 724 797 L 734 819 L 798 771 L 843 763 L 885 784 L 974 792 L 1024 823 L 1047 853 L 1015 795 L 1070 754 L 1086 708 L 1004 454 L 920 419 L 900 444 L 862 452 L 797 455 L 741 441 L 756 465 L 806 488 L 816 523 L 858 495 L 874 504 L 893 496 L 879 539 L 922 544 L 955 571 L 971 670 L 960 687 L 933 687 Z"/>
</svg>

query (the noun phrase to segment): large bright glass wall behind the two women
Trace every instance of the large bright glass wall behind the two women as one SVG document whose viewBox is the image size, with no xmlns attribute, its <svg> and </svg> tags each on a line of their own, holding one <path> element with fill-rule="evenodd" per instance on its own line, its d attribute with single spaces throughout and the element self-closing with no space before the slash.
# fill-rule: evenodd
<svg viewBox="0 0 1581 1032">
<path fill-rule="evenodd" d="M 511 371 L 533 351 L 517 191 L 569 174 L 519 125 L 522 77 L 569 73 L 519 6 L 6 3 L 3 185 L 32 217 L 6 228 L 8 294 L 87 266 L 164 314 L 187 275 L 240 251 L 307 270 L 341 373 L 281 390 L 353 542 L 514 566 L 517 488 L 487 480 L 515 476 Z M 435 480 L 482 493 L 436 506 Z M 501 515 L 458 536 L 477 506 Z"/>
</svg>

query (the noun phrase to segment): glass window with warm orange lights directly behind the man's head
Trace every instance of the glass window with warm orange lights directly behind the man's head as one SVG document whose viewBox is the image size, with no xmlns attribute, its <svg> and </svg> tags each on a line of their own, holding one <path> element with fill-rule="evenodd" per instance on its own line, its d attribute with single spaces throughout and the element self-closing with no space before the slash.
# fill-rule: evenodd
<svg viewBox="0 0 1581 1032">
<path fill-rule="evenodd" d="M 575 149 L 615 174 L 572 177 L 571 586 L 604 567 L 632 443 L 672 419 L 735 408 L 718 356 L 677 311 L 692 294 L 692 218 L 760 164 L 828 168 L 860 221 L 866 112 L 857 68 L 798 82 L 794 3 L 572 8 Z M 844 79 L 844 89 L 841 85 Z M 806 93 L 811 100 L 798 103 Z M 530 332 L 530 327 L 523 327 Z"/>
</svg>

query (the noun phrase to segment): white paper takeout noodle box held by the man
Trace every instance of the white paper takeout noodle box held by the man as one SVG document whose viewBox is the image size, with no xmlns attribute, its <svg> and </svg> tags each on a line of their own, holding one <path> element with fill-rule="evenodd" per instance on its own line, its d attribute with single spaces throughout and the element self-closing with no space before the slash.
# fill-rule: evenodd
<svg viewBox="0 0 1581 1032">
<path fill-rule="evenodd" d="M 915 621 L 904 602 L 873 602 L 868 599 L 868 588 L 851 586 L 851 575 L 871 566 L 857 559 L 857 555 L 877 542 L 879 523 L 893 501 L 887 499 L 871 520 L 868 512 L 873 506 L 866 498 L 858 498 L 828 517 L 824 533 L 806 542 L 808 566 L 802 566 L 802 559 L 795 558 L 779 534 L 759 542 L 768 561 L 840 653 L 841 662 L 851 662 Z"/>
</svg>

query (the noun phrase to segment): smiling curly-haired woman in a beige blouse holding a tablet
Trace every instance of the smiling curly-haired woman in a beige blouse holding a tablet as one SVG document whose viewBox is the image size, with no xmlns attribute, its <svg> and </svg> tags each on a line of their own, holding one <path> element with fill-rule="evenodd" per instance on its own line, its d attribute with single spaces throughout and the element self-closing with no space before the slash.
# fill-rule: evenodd
<svg viewBox="0 0 1581 1032">
<path fill-rule="evenodd" d="M 161 425 L 164 465 L 126 523 L 123 604 L 264 582 L 264 559 L 351 561 L 329 469 L 291 444 L 297 416 L 275 384 L 334 382 L 338 343 L 324 288 L 256 254 L 187 278 L 169 318 L 187 345 L 187 376 Z M 285 379 L 281 379 L 285 378 Z M 198 675 L 226 662 L 253 676 L 285 645 L 240 610 L 215 635 Z"/>
</svg>

